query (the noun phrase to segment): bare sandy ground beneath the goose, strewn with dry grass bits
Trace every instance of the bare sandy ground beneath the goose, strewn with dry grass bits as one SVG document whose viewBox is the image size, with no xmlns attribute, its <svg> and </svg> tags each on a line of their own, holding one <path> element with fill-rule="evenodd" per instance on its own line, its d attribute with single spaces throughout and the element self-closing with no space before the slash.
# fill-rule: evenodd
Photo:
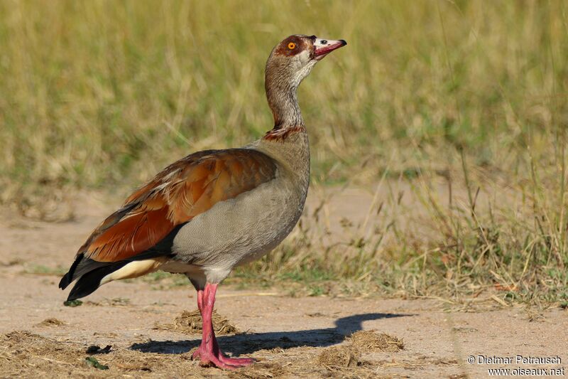
<svg viewBox="0 0 568 379">
<path fill-rule="evenodd" d="M 364 211 L 372 201 L 356 192 L 345 196 L 334 198 L 337 207 L 349 201 Z M 258 363 L 231 373 L 200 368 L 189 353 L 199 334 L 155 329 L 196 308 L 190 285 L 156 289 L 141 280 L 115 282 L 82 306 L 63 306 L 59 277 L 38 267 L 70 265 L 77 247 L 116 204 L 94 198 L 87 205 L 63 223 L 18 218 L 7 210 L 1 215 L 0 377 L 482 378 L 488 368 L 568 366 L 568 314 L 562 309 L 535 319 L 520 307 L 464 313 L 435 300 L 292 298 L 278 287 L 221 286 L 217 310 L 241 333 L 221 336 L 219 343 L 227 353 Z M 41 324 L 50 318 L 62 324 Z M 347 337 L 361 330 L 400 338 L 404 348 L 356 346 Z M 91 345 L 111 345 L 110 353 L 94 356 L 109 370 L 85 363 Z M 332 353 L 339 355 L 330 360 Z M 477 361 L 518 355 L 559 356 L 562 363 L 467 362 L 469 356 Z"/>
</svg>

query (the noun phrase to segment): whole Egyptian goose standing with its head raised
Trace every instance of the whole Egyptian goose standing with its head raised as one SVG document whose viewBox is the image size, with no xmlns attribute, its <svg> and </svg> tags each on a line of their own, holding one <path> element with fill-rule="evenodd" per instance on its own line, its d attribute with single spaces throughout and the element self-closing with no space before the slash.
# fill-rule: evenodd
<svg viewBox="0 0 568 379">
<path fill-rule="evenodd" d="M 190 154 L 132 193 L 87 238 L 62 277 L 61 289 L 77 279 L 68 300 L 158 269 L 183 273 L 197 290 L 203 319 L 193 358 L 229 369 L 253 363 L 219 349 L 212 329 L 215 292 L 233 267 L 273 250 L 300 218 L 310 149 L 296 90 L 318 61 L 345 45 L 303 35 L 278 43 L 266 63 L 273 129 L 239 149 Z"/>
</svg>

